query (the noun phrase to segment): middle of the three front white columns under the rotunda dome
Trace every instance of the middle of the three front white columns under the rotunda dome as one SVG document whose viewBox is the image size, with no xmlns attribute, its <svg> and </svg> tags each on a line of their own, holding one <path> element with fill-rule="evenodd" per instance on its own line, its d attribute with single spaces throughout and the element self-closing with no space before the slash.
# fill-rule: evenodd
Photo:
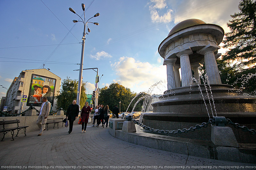
<svg viewBox="0 0 256 170">
<path fill-rule="evenodd" d="M 181 84 L 182 87 L 189 86 L 192 80 L 192 72 L 189 61 L 189 54 L 192 54 L 191 50 L 184 50 L 177 53 L 177 56 L 180 58 L 180 69 L 181 69 Z"/>
</svg>

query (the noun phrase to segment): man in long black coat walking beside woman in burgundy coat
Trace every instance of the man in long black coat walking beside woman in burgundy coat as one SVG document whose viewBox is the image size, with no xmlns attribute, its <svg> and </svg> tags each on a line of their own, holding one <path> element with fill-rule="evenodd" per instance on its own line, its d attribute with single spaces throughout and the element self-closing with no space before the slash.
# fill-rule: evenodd
<svg viewBox="0 0 256 170">
<path fill-rule="evenodd" d="M 68 106 L 66 118 L 69 120 L 69 131 L 68 133 L 72 132 L 73 129 L 73 123 L 78 117 L 79 113 L 79 106 L 76 104 L 76 100 L 73 100 L 73 104 L 70 104 Z"/>
</svg>

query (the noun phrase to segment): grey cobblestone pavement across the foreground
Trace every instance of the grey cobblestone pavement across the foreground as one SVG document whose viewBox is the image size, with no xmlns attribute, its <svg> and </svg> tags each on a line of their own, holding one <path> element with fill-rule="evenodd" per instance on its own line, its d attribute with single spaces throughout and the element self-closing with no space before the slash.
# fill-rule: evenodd
<svg viewBox="0 0 256 170">
<path fill-rule="evenodd" d="M 245 164 L 161 151 L 114 138 L 108 128 L 81 125 L 39 131 L 20 131 L 0 142 L 0 169 L 256 169 Z M 228 154 L 228 153 L 227 153 Z M 234 155 L 236 156 L 236 155 Z M 236 166 L 236 167 L 235 167 Z"/>
</svg>

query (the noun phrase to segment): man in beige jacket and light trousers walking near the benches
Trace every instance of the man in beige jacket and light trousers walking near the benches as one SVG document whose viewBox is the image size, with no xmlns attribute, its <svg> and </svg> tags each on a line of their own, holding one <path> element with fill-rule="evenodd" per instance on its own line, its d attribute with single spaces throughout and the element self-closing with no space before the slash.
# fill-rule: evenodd
<svg viewBox="0 0 256 170">
<path fill-rule="evenodd" d="M 47 121 L 47 117 L 51 110 L 51 103 L 47 101 L 47 97 L 42 98 L 42 105 L 40 108 L 40 112 L 36 121 L 36 124 L 41 129 L 39 134 L 37 136 L 41 136 L 43 134 L 43 131 L 45 130 L 45 124 Z"/>
</svg>

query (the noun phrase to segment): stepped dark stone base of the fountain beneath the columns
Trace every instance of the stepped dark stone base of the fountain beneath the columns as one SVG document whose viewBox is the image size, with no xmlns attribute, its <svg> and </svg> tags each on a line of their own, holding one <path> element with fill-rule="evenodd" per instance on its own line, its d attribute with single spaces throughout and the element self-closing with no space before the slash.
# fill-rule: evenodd
<svg viewBox="0 0 256 170">
<path fill-rule="evenodd" d="M 216 113 L 241 126 L 256 129 L 256 97 L 243 96 L 226 84 L 213 84 L 211 91 L 209 87 L 206 90 L 204 85 L 167 90 L 152 106 L 154 113 L 144 113 L 143 124 L 154 129 L 189 129 L 196 124 L 207 123 L 209 116 L 213 118 Z M 233 125 L 228 126 L 233 129 L 238 143 L 256 143 L 256 135 L 236 129 Z M 147 130 L 145 132 L 151 133 Z M 211 128 L 169 136 L 210 141 Z"/>
</svg>

